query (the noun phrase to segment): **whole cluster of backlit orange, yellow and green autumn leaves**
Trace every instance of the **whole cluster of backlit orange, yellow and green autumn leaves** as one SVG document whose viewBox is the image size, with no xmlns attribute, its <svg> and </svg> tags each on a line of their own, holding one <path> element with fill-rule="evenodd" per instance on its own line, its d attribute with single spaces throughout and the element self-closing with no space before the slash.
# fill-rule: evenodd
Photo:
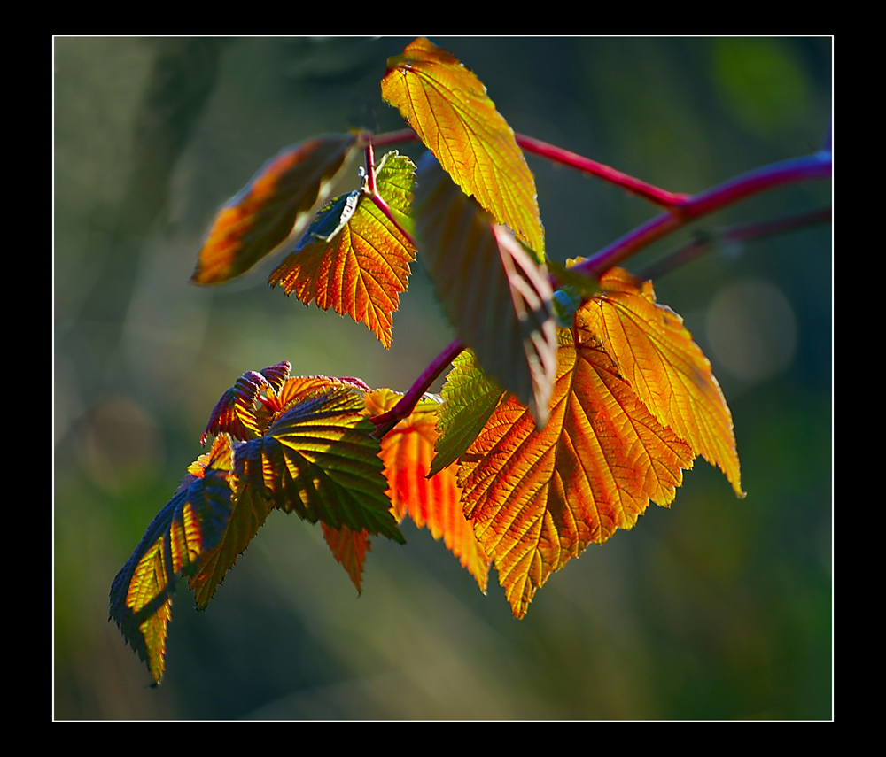
<svg viewBox="0 0 886 757">
<path fill-rule="evenodd" d="M 193 281 L 228 281 L 300 235 L 269 282 L 388 347 L 421 254 L 457 357 L 440 397 L 292 376 L 285 361 L 222 395 L 210 452 L 113 581 L 111 617 L 157 683 L 176 578 L 205 608 L 275 509 L 319 521 L 358 591 L 370 537 L 403 542 L 410 517 L 482 591 L 494 564 L 522 617 L 587 545 L 650 500 L 670 505 L 696 456 L 742 496 L 710 363 L 650 282 L 548 266 L 532 173 L 478 78 L 418 39 L 388 60 L 382 95 L 428 148 L 417 165 L 397 151 L 376 163 L 367 133 L 281 151 L 217 213 Z M 361 151 L 361 189 L 330 199 Z"/>
</svg>

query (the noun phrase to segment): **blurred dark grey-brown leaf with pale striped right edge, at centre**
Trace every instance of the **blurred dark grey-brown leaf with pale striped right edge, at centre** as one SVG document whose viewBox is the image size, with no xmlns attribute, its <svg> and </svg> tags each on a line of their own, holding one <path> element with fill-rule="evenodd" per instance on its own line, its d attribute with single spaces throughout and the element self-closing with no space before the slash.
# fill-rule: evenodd
<svg viewBox="0 0 886 757">
<path fill-rule="evenodd" d="M 417 182 L 416 235 L 444 312 L 486 374 L 543 424 L 556 371 L 553 292 L 545 267 L 427 153 Z"/>
</svg>

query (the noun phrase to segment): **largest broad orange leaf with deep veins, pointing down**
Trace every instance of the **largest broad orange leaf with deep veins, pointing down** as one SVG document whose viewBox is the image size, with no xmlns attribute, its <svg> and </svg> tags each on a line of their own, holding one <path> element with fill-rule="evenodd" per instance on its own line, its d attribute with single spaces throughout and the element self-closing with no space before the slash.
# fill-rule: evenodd
<svg viewBox="0 0 886 757">
<path fill-rule="evenodd" d="M 462 454 L 464 512 L 494 560 L 511 609 L 523 617 L 553 571 L 616 529 L 649 499 L 668 505 L 693 453 L 663 427 L 591 339 L 560 333 L 548 425 L 514 397 Z"/>
</svg>

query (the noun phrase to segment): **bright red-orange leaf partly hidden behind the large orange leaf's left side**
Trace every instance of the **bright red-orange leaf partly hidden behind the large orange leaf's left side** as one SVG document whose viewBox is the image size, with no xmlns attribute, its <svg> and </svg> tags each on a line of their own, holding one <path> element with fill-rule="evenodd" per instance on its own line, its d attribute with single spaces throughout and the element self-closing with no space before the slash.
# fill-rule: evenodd
<svg viewBox="0 0 886 757">
<path fill-rule="evenodd" d="M 387 413 L 401 397 L 392 390 L 376 390 L 365 397 L 367 410 L 370 415 Z M 437 441 L 438 407 L 439 400 L 424 399 L 382 439 L 388 496 L 398 520 L 408 514 L 419 528 L 427 526 L 435 539 L 442 537 L 462 568 L 474 576 L 480 591 L 486 592 L 489 559 L 462 512 L 455 465 L 428 478 Z"/>
</svg>

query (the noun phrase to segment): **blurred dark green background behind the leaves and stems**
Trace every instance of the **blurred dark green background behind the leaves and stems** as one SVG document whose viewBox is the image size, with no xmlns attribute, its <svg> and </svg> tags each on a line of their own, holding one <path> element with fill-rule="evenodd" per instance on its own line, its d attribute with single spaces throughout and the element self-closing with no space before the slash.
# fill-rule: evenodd
<svg viewBox="0 0 886 757">
<path fill-rule="evenodd" d="M 518 132 L 666 189 L 816 151 L 828 129 L 829 38 L 434 40 Z M 320 529 L 274 513 L 205 613 L 180 588 L 159 689 L 107 622 L 113 576 L 237 376 L 289 359 L 295 375 L 406 390 L 452 338 L 420 256 L 391 351 L 268 290 L 279 255 L 225 287 L 188 282 L 215 208 L 266 158 L 323 132 L 403 127 L 379 81 L 410 41 L 55 39 L 55 717 L 830 718 L 829 225 L 656 282 L 732 407 L 743 501 L 696 461 L 670 509 L 572 560 L 523 621 L 494 573 L 483 596 L 426 531 L 375 540 L 358 597 Z M 554 259 L 657 212 L 528 160 Z M 830 197 L 829 182 L 767 193 L 629 267 L 696 228 Z"/>
</svg>

